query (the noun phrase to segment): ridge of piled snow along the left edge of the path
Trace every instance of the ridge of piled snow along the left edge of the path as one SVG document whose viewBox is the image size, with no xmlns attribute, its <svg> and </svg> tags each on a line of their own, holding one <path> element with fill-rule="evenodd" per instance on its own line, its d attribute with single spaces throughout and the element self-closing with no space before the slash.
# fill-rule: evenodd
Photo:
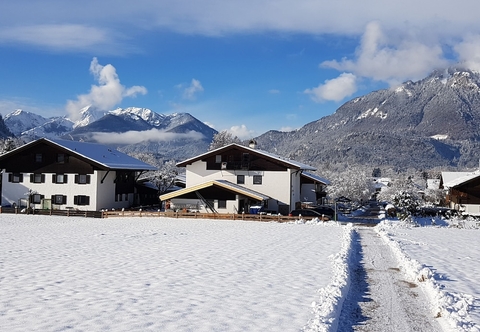
<svg viewBox="0 0 480 332">
<path fill-rule="evenodd" d="M 328 286 L 318 290 L 318 298 L 312 302 L 314 318 L 303 328 L 304 331 L 336 331 L 343 302 L 350 289 L 350 275 L 354 264 L 352 258 L 352 224 L 345 226 L 342 249 L 330 256 L 333 276 Z"/>
</svg>

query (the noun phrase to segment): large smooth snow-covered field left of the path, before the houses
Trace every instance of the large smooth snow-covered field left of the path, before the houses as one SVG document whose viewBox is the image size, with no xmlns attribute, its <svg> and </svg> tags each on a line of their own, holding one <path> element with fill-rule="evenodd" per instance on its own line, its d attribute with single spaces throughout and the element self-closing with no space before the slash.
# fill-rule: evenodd
<svg viewBox="0 0 480 332">
<path fill-rule="evenodd" d="M 2 214 L 0 330 L 299 331 L 336 315 L 351 230 Z"/>
</svg>

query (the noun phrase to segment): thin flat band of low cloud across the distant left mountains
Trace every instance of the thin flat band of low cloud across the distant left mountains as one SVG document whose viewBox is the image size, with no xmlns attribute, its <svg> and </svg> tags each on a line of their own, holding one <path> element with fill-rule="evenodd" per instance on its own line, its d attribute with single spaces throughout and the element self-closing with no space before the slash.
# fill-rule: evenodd
<svg viewBox="0 0 480 332">
<path fill-rule="evenodd" d="M 163 142 L 175 139 L 203 139 L 204 136 L 196 131 L 187 133 L 172 133 L 158 129 L 145 131 L 128 131 L 125 133 L 93 133 L 92 138 L 101 144 L 136 144 L 140 142 Z"/>
</svg>

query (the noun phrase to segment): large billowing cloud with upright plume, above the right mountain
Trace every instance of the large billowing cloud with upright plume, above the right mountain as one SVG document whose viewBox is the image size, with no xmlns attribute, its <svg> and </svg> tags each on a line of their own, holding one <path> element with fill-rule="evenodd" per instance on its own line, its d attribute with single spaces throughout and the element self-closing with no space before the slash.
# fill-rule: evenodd
<svg viewBox="0 0 480 332">
<path fill-rule="evenodd" d="M 321 66 L 395 85 L 407 79 L 423 78 L 433 69 L 448 64 L 440 45 L 427 45 L 408 38 L 392 39 L 390 43 L 389 40 L 380 24 L 371 22 L 355 60 L 325 61 Z"/>
</svg>

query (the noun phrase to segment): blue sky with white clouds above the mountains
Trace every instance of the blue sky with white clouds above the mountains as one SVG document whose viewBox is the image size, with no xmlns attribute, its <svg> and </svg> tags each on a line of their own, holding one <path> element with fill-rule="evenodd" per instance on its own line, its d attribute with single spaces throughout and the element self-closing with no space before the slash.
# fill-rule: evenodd
<svg viewBox="0 0 480 332">
<path fill-rule="evenodd" d="M 433 69 L 480 70 L 479 11 L 477 0 L 4 1 L 0 113 L 136 106 L 245 139 L 293 130 Z"/>
</svg>

